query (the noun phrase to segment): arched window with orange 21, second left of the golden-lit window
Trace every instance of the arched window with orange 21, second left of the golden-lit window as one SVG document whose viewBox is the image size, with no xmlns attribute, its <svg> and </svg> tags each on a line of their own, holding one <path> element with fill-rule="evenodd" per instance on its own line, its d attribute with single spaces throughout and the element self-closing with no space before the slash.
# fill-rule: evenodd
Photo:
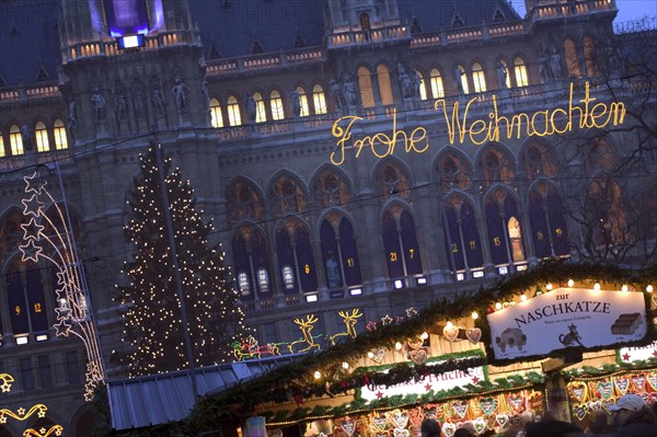
<svg viewBox="0 0 657 437">
<path fill-rule="evenodd" d="M 413 216 L 395 205 L 383 214 L 382 228 L 390 278 L 422 275 L 422 256 Z"/>
</svg>

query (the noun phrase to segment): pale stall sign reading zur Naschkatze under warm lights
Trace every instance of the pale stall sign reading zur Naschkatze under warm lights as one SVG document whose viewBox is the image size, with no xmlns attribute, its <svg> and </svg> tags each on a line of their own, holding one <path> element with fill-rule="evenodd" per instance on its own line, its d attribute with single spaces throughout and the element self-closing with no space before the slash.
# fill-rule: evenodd
<svg viewBox="0 0 657 437">
<path fill-rule="evenodd" d="M 487 318 L 498 359 L 632 342 L 647 332 L 644 297 L 629 291 L 560 288 Z"/>
</svg>

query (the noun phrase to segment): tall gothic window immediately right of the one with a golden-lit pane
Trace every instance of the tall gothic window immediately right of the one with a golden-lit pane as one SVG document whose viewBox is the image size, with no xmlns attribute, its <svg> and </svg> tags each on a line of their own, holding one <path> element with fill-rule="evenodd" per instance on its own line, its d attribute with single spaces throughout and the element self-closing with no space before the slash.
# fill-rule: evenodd
<svg viewBox="0 0 657 437">
<path fill-rule="evenodd" d="M 565 211 L 556 191 L 540 184 L 529 195 L 529 220 L 538 258 L 569 253 Z"/>
</svg>

